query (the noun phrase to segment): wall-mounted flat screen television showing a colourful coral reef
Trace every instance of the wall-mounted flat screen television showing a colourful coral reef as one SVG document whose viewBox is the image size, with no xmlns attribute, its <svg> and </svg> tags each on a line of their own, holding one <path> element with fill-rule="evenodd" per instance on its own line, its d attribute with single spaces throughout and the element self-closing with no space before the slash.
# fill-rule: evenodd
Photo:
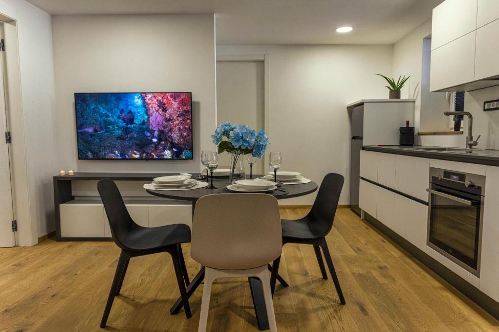
<svg viewBox="0 0 499 332">
<path fill-rule="evenodd" d="M 78 159 L 193 159 L 192 95 L 75 93 Z"/>
</svg>

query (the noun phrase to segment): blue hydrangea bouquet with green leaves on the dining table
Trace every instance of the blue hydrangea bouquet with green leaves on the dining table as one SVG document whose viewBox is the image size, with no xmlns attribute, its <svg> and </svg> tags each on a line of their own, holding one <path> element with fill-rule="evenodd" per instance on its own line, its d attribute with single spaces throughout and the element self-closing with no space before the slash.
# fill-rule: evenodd
<svg viewBox="0 0 499 332">
<path fill-rule="evenodd" d="M 239 157 L 250 154 L 261 158 L 268 145 L 268 137 L 264 130 L 256 131 L 246 124 L 225 122 L 215 129 L 213 143 L 218 146 L 218 153 L 224 151 L 231 154 L 230 181 L 234 183 L 234 173 Z"/>
</svg>

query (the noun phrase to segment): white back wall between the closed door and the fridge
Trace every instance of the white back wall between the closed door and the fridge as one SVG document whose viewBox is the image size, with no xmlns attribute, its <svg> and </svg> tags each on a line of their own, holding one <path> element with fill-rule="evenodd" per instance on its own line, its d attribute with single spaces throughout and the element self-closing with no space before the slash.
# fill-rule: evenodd
<svg viewBox="0 0 499 332">
<path fill-rule="evenodd" d="M 348 204 L 350 122 L 345 106 L 388 97 L 374 74 L 391 75 L 392 46 L 218 46 L 217 54 L 268 54 L 267 151 L 282 152 L 282 170 L 299 171 L 318 183 L 326 173 L 342 174 L 340 204 Z M 314 197 L 281 204 L 311 204 Z"/>
</svg>

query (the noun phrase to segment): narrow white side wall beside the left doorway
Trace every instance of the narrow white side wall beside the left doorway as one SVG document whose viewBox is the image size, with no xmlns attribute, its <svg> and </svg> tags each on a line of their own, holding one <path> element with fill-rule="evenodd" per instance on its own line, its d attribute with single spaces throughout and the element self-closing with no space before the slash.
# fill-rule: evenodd
<svg viewBox="0 0 499 332">
<path fill-rule="evenodd" d="M 17 27 L 22 120 L 16 127 L 18 130 L 12 132 L 12 145 L 16 139 L 17 143 L 24 140 L 22 148 L 26 160 L 17 162 L 20 160 L 17 159 L 19 153 L 18 150 L 15 152 L 15 177 L 22 170 L 21 176 L 25 181 L 14 179 L 14 191 L 23 191 L 24 186 L 27 187 L 28 200 L 22 202 L 22 211 L 16 216 L 20 227 L 18 243 L 32 245 L 39 235 L 54 229 L 52 176 L 56 170 L 57 152 L 53 126 L 55 97 L 51 16 L 24 0 L 0 0 L 0 12 L 15 19 Z M 9 52 L 8 47 L 7 40 L 6 52 Z M 14 117 L 18 115 L 12 114 Z M 29 215 L 25 215 L 26 212 Z M 29 224 L 31 227 L 28 227 Z"/>
</svg>

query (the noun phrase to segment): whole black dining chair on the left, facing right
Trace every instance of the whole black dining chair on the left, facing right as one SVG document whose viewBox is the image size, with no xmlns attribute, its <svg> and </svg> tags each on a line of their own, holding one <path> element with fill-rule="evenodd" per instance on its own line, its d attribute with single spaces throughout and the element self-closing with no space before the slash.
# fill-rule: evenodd
<svg viewBox="0 0 499 332">
<path fill-rule="evenodd" d="M 142 227 L 136 224 L 128 214 L 123 198 L 113 180 L 100 180 L 97 183 L 97 189 L 104 203 L 114 243 L 121 248 L 118 266 L 116 266 L 100 327 L 106 327 L 114 297 L 120 294 L 130 258 L 159 252 L 168 252 L 172 256 L 182 304 L 186 317 L 191 318 L 191 308 L 186 292 L 189 277 L 181 246 L 181 243 L 191 241 L 191 228 L 183 223 L 160 227 Z"/>
</svg>

